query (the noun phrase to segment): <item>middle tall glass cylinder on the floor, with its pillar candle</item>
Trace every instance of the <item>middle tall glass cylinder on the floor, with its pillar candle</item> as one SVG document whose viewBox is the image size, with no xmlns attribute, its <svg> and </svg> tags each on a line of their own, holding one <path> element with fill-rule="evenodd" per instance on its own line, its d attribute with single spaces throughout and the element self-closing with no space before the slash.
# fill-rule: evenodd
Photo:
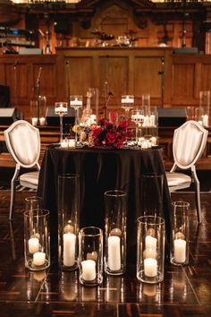
<svg viewBox="0 0 211 317">
<path fill-rule="evenodd" d="M 105 272 L 121 275 L 126 270 L 127 193 L 108 191 L 105 198 Z"/>
</svg>

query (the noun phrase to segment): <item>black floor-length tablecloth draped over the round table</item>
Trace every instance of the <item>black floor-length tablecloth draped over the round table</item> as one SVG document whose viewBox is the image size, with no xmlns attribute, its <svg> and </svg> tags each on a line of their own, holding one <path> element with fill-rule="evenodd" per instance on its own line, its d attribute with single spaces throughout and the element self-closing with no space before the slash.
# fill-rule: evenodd
<svg viewBox="0 0 211 317">
<path fill-rule="evenodd" d="M 80 227 L 104 228 L 104 193 L 120 189 L 128 193 L 127 242 L 128 259 L 133 261 L 136 245 L 136 220 L 140 216 L 140 176 L 163 174 L 165 166 L 161 149 L 61 149 L 46 147 L 42 162 L 38 195 L 50 210 L 51 242 L 57 239 L 57 182 L 66 173 L 80 175 Z M 153 198 L 152 198 L 153 199 Z M 164 177 L 163 215 L 167 241 L 170 237 L 170 195 Z"/>
</svg>

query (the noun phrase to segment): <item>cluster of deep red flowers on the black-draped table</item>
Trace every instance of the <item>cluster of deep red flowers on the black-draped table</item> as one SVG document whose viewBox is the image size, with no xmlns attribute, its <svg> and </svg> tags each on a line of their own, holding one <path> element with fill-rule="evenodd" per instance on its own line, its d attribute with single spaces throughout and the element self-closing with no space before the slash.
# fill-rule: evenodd
<svg viewBox="0 0 211 317">
<path fill-rule="evenodd" d="M 127 123 L 125 120 L 113 124 L 105 118 L 101 119 L 98 125 L 91 130 L 91 144 L 93 146 L 108 146 L 121 148 L 127 136 Z"/>
</svg>

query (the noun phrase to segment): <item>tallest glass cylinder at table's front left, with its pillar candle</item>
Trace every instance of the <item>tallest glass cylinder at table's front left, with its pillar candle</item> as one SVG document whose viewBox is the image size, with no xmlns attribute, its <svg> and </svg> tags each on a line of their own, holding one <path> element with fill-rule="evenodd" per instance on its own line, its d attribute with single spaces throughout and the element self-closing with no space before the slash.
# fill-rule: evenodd
<svg viewBox="0 0 211 317">
<path fill-rule="evenodd" d="M 58 256 L 62 270 L 78 267 L 80 177 L 58 176 Z"/>
</svg>

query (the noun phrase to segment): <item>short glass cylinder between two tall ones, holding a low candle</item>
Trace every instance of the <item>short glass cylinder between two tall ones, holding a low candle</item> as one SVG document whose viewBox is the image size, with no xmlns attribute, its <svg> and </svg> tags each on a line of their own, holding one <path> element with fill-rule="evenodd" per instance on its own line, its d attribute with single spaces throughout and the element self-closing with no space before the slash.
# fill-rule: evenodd
<svg viewBox="0 0 211 317">
<path fill-rule="evenodd" d="M 79 233 L 80 284 L 89 287 L 103 281 L 103 231 L 98 227 L 83 227 Z"/>
</svg>

